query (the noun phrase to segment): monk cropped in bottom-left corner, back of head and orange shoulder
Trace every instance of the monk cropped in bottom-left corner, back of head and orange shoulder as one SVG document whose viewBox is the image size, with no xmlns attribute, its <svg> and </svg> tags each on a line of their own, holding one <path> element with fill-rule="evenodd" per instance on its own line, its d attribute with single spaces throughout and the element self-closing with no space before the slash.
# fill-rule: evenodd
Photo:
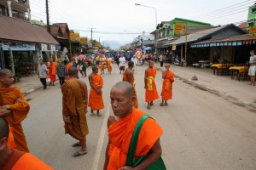
<svg viewBox="0 0 256 170">
<path fill-rule="evenodd" d="M 9 143 L 9 125 L 3 117 L 0 117 L 0 169 L 12 170 L 49 170 L 49 167 L 44 161 L 20 150 L 11 150 L 8 147 Z"/>
</svg>

